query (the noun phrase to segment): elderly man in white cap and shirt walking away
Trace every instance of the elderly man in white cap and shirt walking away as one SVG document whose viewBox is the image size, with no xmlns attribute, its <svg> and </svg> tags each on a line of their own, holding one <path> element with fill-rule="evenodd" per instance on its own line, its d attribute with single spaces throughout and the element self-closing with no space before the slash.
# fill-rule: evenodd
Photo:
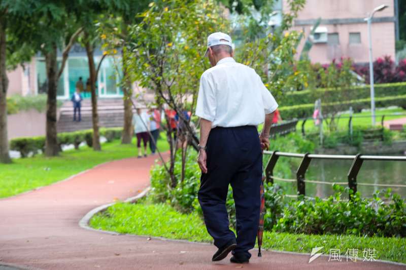
<svg viewBox="0 0 406 270">
<path fill-rule="evenodd" d="M 196 115 L 200 117 L 197 162 L 201 169 L 198 200 L 218 251 L 212 260 L 248 263 L 259 222 L 262 150 L 278 104 L 254 69 L 234 61 L 231 37 L 208 37 L 205 56 L 211 68 L 200 78 Z M 257 125 L 264 123 L 258 136 Z M 236 234 L 229 229 L 225 206 L 231 184 Z"/>
</svg>

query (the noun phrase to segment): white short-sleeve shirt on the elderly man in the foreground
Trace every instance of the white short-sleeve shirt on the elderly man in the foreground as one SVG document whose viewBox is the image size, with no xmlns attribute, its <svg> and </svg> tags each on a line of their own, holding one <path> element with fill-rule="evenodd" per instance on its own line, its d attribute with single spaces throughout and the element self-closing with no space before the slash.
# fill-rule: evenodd
<svg viewBox="0 0 406 270">
<path fill-rule="evenodd" d="M 200 78 L 196 115 L 214 127 L 256 126 L 278 103 L 254 69 L 226 57 Z"/>
</svg>

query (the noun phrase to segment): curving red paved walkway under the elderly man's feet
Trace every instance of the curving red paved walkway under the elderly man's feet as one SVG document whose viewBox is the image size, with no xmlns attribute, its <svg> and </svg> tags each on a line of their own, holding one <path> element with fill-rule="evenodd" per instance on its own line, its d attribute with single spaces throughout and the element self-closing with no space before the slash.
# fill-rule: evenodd
<svg viewBox="0 0 406 270">
<path fill-rule="evenodd" d="M 78 226 L 91 209 L 146 188 L 153 158 L 98 166 L 70 180 L 0 200 L 0 264 L 40 269 L 404 269 L 381 262 L 327 262 L 264 252 L 248 265 L 213 263 L 212 245 L 114 236 Z M 142 217 L 140 217 L 142 218 Z M 255 253 L 255 252 L 254 252 Z M 1 266 L 0 266 L 1 268 Z"/>
</svg>

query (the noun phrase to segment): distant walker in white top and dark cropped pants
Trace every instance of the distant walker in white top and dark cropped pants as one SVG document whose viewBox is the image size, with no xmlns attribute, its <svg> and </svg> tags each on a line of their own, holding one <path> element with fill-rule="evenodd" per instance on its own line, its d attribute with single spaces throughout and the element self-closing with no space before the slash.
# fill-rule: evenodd
<svg viewBox="0 0 406 270">
<path fill-rule="evenodd" d="M 141 140 L 144 143 L 144 157 L 147 157 L 147 144 L 149 140 L 148 115 L 145 112 L 141 112 L 140 108 L 137 108 L 137 113 L 135 113 L 132 117 L 132 125 L 134 126 L 134 133 L 136 133 L 137 136 L 138 158 L 140 159 L 143 156 Z"/>
</svg>

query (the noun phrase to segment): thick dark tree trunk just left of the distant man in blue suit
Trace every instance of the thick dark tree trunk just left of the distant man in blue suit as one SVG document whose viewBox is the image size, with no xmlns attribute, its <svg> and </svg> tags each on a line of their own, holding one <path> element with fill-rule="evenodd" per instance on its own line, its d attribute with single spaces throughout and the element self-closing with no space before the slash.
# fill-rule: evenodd
<svg viewBox="0 0 406 270">
<path fill-rule="evenodd" d="M 56 131 L 56 93 L 58 86 L 58 64 L 56 61 L 56 44 L 52 43 L 52 50 L 45 53 L 45 63 L 48 80 L 47 122 L 45 139 L 45 156 L 54 157 L 59 153 Z"/>
</svg>

